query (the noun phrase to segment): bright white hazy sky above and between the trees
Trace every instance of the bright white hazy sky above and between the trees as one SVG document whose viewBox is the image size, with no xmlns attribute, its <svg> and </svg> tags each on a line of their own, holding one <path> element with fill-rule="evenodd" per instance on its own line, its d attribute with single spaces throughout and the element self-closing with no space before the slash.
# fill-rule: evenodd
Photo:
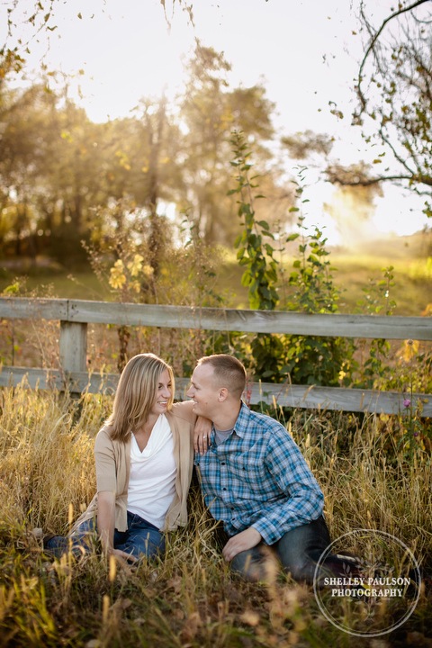
<svg viewBox="0 0 432 648">
<path fill-rule="evenodd" d="M 0 2 L 0 30 L 6 8 Z M 43 3 L 42 3 L 43 4 Z M 194 0 L 193 23 L 178 4 L 166 0 L 166 16 L 160 0 L 57 0 L 50 24 L 30 43 L 29 65 L 37 70 L 40 60 L 49 69 L 76 76 L 82 98 L 76 98 L 94 121 L 127 115 L 146 96 L 166 88 L 168 96 L 181 90 L 183 60 L 194 39 L 223 51 L 232 66 L 231 84 L 266 86 L 275 102 L 275 126 L 280 134 L 302 130 L 327 132 L 337 139 L 334 154 L 350 164 L 371 159 L 359 130 L 349 119 L 338 121 L 329 102 L 344 112 L 353 105 L 353 78 L 363 44 L 354 9 L 357 0 Z M 388 13 L 390 0 L 368 0 L 377 24 Z M 25 40 L 25 18 L 31 0 L 18 0 L 14 17 L 16 33 Z M 170 23 L 170 26 L 168 25 Z M 49 43 L 47 43 L 47 33 Z M 3 36 L 3 34 L 2 34 Z M 72 83 L 72 87 L 74 83 Z M 351 102 L 351 103 L 350 103 Z M 287 161 L 288 172 L 293 161 Z M 335 190 L 317 182 L 311 169 L 306 190 L 311 200 L 308 218 L 326 227 L 329 242 L 338 243 L 338 232 L 323 203 L 332 202 Z M 375 233 L 411 234 L 427 222 L 423 201 L 394 187 L 375 200 L 370 225 Z M 312 215 L 313 214 L 313 215 Z M 430 222 L 429 222 L 430 225 Z"/>
</svg>

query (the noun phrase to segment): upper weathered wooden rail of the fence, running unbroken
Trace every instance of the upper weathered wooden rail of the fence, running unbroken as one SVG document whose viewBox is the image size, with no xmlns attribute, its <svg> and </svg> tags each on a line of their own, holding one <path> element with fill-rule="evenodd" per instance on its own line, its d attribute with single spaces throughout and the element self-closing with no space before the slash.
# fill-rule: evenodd
<svg viewBox="0 0 432 648">
<path fill-rule="evenodd" d="M 0 317 L 341 338 L 432 340 L 432 318 L 0 298 Z"/>
</svg>

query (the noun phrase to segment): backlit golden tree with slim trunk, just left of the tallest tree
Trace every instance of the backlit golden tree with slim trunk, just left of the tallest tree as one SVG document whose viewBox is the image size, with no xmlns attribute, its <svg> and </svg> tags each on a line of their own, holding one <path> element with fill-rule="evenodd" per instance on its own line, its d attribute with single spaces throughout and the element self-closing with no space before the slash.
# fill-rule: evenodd
<svg viewBox="0 0 432 648">
<path fill-rule="evenodd" d="M 179 130 L 165 97 L 142 99 L 133 117 L 105 127 L 103 175 L 112 208 L 99 212 L 101 233 L 111 230 L 117 237 L 132 226 L 135 235 L 148 240 L 149 265 L 157 276 L 167 232 L 160 208 L 175 201 L 181 182 Z"/>
</svg>

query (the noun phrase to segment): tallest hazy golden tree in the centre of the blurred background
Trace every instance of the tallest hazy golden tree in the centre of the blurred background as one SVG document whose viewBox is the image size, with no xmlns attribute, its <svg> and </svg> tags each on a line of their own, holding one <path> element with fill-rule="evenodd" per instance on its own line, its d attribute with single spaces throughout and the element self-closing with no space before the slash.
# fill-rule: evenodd
<svg viewBox="0 0 432 648">
<path fill-rule="evenodd" d="M 241 130 L 263 170 L 274 135 L 274 104 L 262 85 L 229 87 L 223 54 L 197 43 L 181 103 L 184 137 L 184 206 L 207 243 L 232 244 L 238 234 L 237 207 L 230 189 L 232 130 Z M 261 165 L 261 167 L 260 167 Z"/>
</svg>

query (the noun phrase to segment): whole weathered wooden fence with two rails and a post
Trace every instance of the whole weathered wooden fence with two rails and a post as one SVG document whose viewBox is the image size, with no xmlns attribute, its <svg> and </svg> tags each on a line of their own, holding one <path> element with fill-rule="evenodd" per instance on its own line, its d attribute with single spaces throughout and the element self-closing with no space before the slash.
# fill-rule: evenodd
<svg viewBox="0 0 432 648">
<path fill-rule="evenodd" d="M 118 374 L 89 374 L 86 367 L 87 324 L 169 329 L 204 329 L 249 333 L 285 333 L 339 338 L 432 341 L 432 318 L 372 315 L 304 314 L 280 311 L 188 308 L 134 303 L 62 299 L 0 298 L 0 320 L 59 320 L 60 369 L 3 366 L 0 387 L 17 385 L 71 392 L 113 391 Z M 188 378 L 176 378 L 176 398 L 183 398 Z M 336 387 L 254 383 L 251 403 L 272 402 L 291 408 L 399 414 L 410 398 L 419 416 L 432 416 L 432 395 Z"/>
</svg>

